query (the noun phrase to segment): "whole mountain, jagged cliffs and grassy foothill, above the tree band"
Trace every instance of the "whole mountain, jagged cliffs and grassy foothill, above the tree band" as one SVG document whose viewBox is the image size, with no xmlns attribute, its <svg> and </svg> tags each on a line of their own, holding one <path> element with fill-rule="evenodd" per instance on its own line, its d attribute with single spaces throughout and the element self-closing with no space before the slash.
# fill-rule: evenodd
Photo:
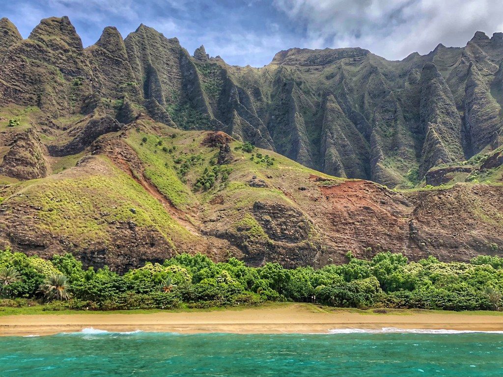
<svg viewBox="0 0 503 377">
<path fill-rule="evenodd" d="M 119 271 L 183 251 L 289 267 L 495 254 L 502 37 L 253 68 L 144 25 L 83 48 L 67 17 L 27 39 L 4 18 L 0 247 Z"/>
</svg>

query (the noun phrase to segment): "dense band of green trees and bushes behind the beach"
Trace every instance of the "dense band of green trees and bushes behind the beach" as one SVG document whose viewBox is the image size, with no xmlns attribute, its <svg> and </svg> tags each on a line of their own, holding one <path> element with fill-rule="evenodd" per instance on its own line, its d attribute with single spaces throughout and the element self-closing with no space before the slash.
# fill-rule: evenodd
<svg viewBox="0 0 503 377">
<path fill-rule="evenodd" d="M 351 308 L 500 307 L 503 258 L 480 256 L 470 263 L 444 263 L 429 257 L 409 262 L 389 252 L 370 261 L 351 253 L 347 258 L 346 264 L 315 270 L 285 269 L 278 263 L 247 267 L 235 258 L 214 263 L 201 254 L 181 254 L 162 265 L 146 263 L 119 275 L 108 267 L 83 269 L 70 254 L 46 261 L 6 250 L 0 251 L 1 294 L 53 301 L 51 309 L 89 310 L 206 308 L 259 305 L 266 300 L 315 300 Z"/>
</svg>

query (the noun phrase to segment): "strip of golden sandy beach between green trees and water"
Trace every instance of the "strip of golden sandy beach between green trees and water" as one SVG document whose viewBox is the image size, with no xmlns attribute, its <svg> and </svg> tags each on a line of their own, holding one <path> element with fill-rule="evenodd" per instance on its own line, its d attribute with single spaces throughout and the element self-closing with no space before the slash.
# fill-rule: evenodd
<svg viewBox="0 0 503 377">
<path fill-rule="evenodd" d="M 86 328 L 110 332 L 193 333 L 329 333 L 330 330 L 458 330 L 503 331 L 503 315 L 467 312 L 324 310 L 306 304 L 288 304 L 209 312 L 148 314 L 43 314 L 0 317 L 0 336 L 51 335 Z"/>
</svg>

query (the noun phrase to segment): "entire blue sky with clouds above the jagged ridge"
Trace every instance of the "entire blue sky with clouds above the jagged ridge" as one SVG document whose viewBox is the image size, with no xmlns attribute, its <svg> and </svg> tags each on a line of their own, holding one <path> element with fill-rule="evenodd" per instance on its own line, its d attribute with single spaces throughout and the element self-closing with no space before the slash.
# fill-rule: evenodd
<svg viewBox="0 0 503 377">
<path fill-rule="evenodd" d="M 140 23 L 203 44 L 227 63 L 260 67 L 291 47 L 362 47 L 387 59 L 464 46 L 479 30 L 503 32 L 501 0 L 0 0 L 23 37 L 43 18 L 68 16 L 84 46 L 106 26 L 125 38 Z"/>
</svg>

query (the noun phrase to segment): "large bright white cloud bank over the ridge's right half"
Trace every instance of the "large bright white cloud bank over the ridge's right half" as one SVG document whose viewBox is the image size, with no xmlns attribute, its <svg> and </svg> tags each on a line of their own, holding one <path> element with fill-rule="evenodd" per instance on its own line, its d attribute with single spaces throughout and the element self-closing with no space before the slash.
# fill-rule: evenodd
<svg viewBox="0 0 503 377">
<path fill-rule="evenodd" d="M 363 47 L 388 59 L 463 46 L 475 31 L 503 31 L 494 0 L 274 0 L 299 30 L 302 47 Z"/>
</svg>

